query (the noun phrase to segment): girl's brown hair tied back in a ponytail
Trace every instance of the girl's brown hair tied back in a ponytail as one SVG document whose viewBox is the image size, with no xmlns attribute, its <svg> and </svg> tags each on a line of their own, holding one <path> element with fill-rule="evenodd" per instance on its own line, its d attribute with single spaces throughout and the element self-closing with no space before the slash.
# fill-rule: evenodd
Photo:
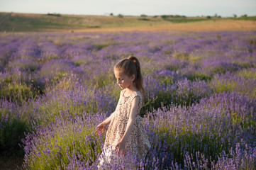
<svg viewBox="0 0 256 170">
<path fill-rule="evenodd" d="M 145 89 L 143 86 L 143 76 L 140 72 L 140 62 L 135 56 L 129 56 L 126 59 L 121 60 L 118 62 L 113 69 L 116 69 L 123 74 L 126 74 L 128 77 L 135 75 L 135 79 L 133 80 L 133 83 L 135 84 L 135 87 L 142 93 L 145 94 Z"/>
</svg>

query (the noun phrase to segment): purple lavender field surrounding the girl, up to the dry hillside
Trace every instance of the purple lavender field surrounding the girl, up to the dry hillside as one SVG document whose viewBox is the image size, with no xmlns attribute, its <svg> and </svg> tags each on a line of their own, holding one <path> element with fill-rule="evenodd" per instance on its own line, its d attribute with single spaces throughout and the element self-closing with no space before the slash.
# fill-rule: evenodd
<svg viewBox="0 0 256 170">
<path fill-rule="evenodd" d="M 135 55 L 152 148 L 106 169 L 256 169 L 256 31 L 0 35 L 0 150 L 19 169 L 96 169 Z"/>
</svg>

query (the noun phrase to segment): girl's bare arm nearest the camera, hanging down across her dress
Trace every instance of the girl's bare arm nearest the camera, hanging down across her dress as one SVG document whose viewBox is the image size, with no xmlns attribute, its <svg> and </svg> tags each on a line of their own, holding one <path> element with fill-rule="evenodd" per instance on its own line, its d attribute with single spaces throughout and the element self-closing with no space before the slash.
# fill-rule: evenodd
<svg viewBox="0 0 256 170">
<path fill-rule="evenodd" d="M 135 118 L 139 108 L 139 102 L 140 102 L 140 97 L 135 96 L 135 98 L 133 98 L 133 101 L 132 101 L 132 106 L 130 109 L 130 115 L 129 115 L 126 131 L 124 132 L 124 135 L 121 138 L 121 140 L 116 145 L 116 148 L 118 149 L 118 154 L 119 152 L 121 152 L 123 156 L 126 154 L 126 141 L 128 140 L 128 137 L 130 136 L 130 132 L 133 129 L 133 123 L 135 122 Z"/>
</svg>

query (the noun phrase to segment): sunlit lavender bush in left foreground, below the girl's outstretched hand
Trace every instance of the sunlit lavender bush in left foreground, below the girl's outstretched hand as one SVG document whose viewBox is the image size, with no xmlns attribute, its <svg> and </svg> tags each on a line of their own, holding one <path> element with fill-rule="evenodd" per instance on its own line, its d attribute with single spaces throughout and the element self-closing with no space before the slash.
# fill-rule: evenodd
<svg viewBox="0 0 256 170">
<path fill-rule="evenodd" d="M 104 142 L 104 137 L 93 131 L 96 123 L 104 119 L 106 114 L 84 113 L 83 117 L 60 117 L 47 126 L 35 128 L 23 140 L 26 152 L 23 168 L 78 169 L 93 164 Z"/>
</svg>

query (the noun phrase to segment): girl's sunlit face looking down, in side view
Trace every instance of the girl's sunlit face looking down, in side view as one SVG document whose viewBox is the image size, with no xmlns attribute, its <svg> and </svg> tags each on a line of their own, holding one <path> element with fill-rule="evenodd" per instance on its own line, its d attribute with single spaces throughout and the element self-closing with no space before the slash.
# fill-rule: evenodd
<svg viewBox="0 0 256 170">
<path fill-rule="evenodd" d="M 114 69 L 113 72 L 116 77 L 116 83 L 121 87 L 121 89 L 129 88 L 130 85 L 133 84 L 134 75 L 132 77 L 128 77 L 126 74 L 123 74 L 116 69 Z"/>
</svg>

